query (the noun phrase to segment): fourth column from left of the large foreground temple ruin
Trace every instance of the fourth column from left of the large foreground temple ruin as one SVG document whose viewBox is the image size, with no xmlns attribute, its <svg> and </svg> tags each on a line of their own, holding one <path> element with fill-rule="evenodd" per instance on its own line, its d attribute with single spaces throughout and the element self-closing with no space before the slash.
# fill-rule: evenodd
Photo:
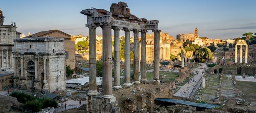
<svg viewBox="0 0 256 113">
<path fill-rule="evenodd" d="M 130 30 L 128 28 L 124 28 L 124 37 L 125 37 L 125 48 L 124 48 L 124 85 L 130 86 Z"/>
</svg>

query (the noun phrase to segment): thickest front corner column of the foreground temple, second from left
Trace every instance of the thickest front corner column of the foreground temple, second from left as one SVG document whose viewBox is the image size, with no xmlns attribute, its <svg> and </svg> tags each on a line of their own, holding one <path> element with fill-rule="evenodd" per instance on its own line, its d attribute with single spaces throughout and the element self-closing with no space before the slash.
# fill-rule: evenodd
<svg viewBox="0 0 256 113">
<path fill-rule="evenodd" d="M 111 25 L 103 25 L 103 98 L 113 98 Z"/>
</svg>

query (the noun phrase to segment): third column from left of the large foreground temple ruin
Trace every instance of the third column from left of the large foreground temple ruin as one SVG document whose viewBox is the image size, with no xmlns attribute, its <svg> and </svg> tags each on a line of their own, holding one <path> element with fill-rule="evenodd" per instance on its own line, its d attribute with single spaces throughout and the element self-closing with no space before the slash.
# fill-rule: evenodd
<svg viewBox="0 0 256 113">
<path fill-rule="evenodd" d="M 114 89 L 122 88 L 120 85 L 120 29 L 115 27 L 114 30 Z"/>
</svg>

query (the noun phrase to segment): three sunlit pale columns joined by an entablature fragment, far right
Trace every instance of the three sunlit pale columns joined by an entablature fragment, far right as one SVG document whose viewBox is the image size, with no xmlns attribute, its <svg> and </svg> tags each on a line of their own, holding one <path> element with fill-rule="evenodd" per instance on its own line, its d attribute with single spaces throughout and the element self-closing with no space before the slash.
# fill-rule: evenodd
<svg viewBox="0 0 256 113">
<path fill-rule="evenodd" d="M 240 63 L 242 63 L 242 46 L 245 45 L 245 63 L 248 58 L 248 45 L 244 40 L 239 40 L 235 45 L 235 63 L 237 63 L 237 46 L 240 45 Z"/>
</svg>

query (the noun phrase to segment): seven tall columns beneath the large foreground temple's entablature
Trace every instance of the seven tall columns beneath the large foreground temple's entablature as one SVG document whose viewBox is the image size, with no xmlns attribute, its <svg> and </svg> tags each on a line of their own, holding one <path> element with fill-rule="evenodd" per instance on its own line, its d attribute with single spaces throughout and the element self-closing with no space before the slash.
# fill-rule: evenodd
<svg viewBox="0 0 256 113">
<path fill-rule="evenodd" d="M 90 48 L 90 83 L 89 95 L 97 95 L 96 84 L 96 26 L 88 26 L 89 28 L 89 48 Z M 111 25 L 101 25 L 103 31 L 103 98 L 112 98 L 112 88 L 122 88 L 120 84 L 120 49 L 119 49 L 119 32 L 121 28 L 112 27 Z M 112 50 L 111 50 L 111 29 L 114 30 L 114 85 L 112 86 Z M 141 82 L 146 82 L 146 32 L 147 30 L 137 30 L 123 28 L 125 32 L 125 86 L 130 86 L 130 31 L 134 34 L 134 78 L 133 83 L 140 83 L 139 81 L 139 32 L 142 34 L 142 79 Z M 159 82 L 159 40 L 160 30 L 153 30 L 154 32 L 154 81 Z"/>
</svg>

